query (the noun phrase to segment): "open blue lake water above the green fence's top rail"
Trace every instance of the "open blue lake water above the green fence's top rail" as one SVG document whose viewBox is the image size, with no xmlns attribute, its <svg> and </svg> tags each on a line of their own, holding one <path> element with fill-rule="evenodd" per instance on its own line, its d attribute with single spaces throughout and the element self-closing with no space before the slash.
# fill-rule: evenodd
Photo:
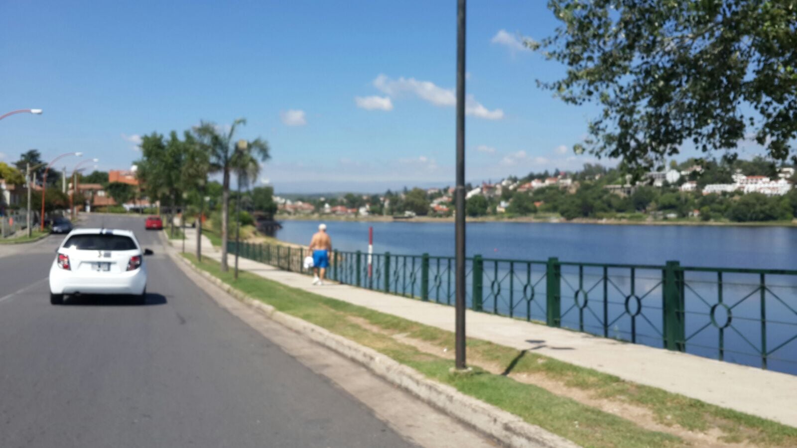
<svg viewBox="0 0 797 448">
<path fill-rule="evenodd" d="M 320 222 L 284 221 L 277 238 L 307 245 Z M 333 246 L 453 256 L 450 222 L 327 222 Z M 607 226 L 538 222 L 474 222 L 466 230 L 468 256 L 595 263 L 797 269 L 797 228 L 741 226 Z"/>
</svg>

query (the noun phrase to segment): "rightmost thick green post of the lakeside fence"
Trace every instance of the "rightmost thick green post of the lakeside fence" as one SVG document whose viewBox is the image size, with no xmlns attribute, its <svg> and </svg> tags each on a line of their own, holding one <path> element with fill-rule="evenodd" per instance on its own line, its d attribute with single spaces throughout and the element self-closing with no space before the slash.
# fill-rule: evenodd
<svg viewBox="0 0 797 448">
<path fill-rule="evenodd" d="M 684 352 L 686 325 L 684 321 L 684 271 L 678 261 L 667 261 L 664 268 L 664 347 Z"/>
</svg>

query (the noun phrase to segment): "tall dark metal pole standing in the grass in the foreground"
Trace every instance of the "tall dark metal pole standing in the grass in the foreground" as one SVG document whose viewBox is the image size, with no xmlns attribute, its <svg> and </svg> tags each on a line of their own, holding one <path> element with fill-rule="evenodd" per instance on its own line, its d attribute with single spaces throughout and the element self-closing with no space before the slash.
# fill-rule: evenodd
<svg viewBox="0 0 797 448">
<path fill-rule="evenodd" d="M 457 0 L 457 190 L 454 220 L 456 246 L 456 357 L 457 370 L 465 364 L 465 0 Z"/>
</svg>

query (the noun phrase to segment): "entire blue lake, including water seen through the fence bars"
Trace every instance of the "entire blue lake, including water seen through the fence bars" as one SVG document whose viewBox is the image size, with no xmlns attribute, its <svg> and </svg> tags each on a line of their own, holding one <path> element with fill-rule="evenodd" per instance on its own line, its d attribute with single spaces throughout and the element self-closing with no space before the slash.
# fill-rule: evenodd
<svg viewBox="0 0 797 448">
<path fill-rule="evenodd" d="M 277 238 L 307 245 L 320 222 L 285 221 Z M 328 222 L 337 250 L 391 253 L 392 292 L 421 295 L 420 259 L 396 254 L 454 254 L 453 223 Z M 497 260 L 662 266 L 797 269 L 797 228 L 749 226 L 611 226 L 572 223 L 479 222 L 467 226 L 469 257 L 485 257 L 484 310 L 545 320 L 545 265 Z M 493 259 L 493 260 L 490 260 Z M 375 257 L 383 285 L 383 256 Z M 344 260 L 344 265 L 345 260 Z M 400 269 L 399 269 L 400 268 Z M 453 263 L 430 263 L 432 301 L 452 303 Z M 398 269 L 398 270 L 397 270 Z M 473 263 L 467 266 L 468 306 L 473 305 Z M 561 325 L 599 336 L 662 347 L 662 269 L 562 265 Z M 341 266 L 348 271 L 351 263 Z M 360 276 L 364 282 L 364 275 Z M 381 276 L 381 277 L 380 277 Z M 738 364 L 797 374 L 797 276 L 685 270 L 686 351 Z M 762 300 L 762 296 L 764 300 Z M 764 316 L 764 319 L 762 319 Z M 762 356 L 762 352 L 766 356 Z"/>
</svg>

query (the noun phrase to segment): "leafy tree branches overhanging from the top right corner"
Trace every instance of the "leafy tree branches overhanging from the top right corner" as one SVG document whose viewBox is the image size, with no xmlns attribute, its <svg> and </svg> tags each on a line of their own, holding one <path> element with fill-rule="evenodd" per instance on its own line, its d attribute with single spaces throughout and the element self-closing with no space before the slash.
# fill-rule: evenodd
<svg viewBox="0 0 797 448">
<path fill-rule="evenodd" d="M 603 111 L 588 151 L 632 171 L 690 142 L 731 159 L 747 135 L 785 160 L 797 135 L 797 8 L 785 1 L 549 0 L 561 25 L 532 49 L 567 65 L 540 83 Z M 584 146 L 577 145 L 576 151 Z M 792 155 L 792 159 L 795 156 Z"/>
</svg>

